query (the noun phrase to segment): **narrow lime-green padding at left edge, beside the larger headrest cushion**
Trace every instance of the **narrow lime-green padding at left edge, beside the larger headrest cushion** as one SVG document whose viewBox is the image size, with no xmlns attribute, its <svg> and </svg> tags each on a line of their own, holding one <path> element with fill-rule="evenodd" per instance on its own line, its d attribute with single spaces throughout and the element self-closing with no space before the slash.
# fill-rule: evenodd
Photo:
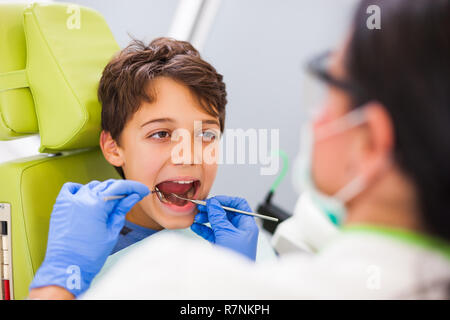
<svg viewBox="0 0 450 320">
<path fill-rule="evenodd" d="M 22 24 L 24 7 L 24 4 L 0 4 L 0 140 L 38 132 L 30 89 L 2 91 L 2 88 L 22 82 L 17 77 L 11 80 L 11 76 L 3 75 L 25 69 L 27 51 Z"/>
</svg>

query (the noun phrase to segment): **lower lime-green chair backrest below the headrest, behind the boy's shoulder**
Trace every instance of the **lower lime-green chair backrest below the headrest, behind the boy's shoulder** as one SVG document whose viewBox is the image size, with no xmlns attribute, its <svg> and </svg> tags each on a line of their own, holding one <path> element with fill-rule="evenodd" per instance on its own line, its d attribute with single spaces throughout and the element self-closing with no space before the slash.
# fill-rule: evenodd
<svg viewBox="0 0 450 320">
<path fill-rule="evenodd" d="M 119 179 L 99 148 L 0 164 L 0 202 L 11 204 L 14 298 L 24 299 L 47 245 L 49 219 L 62 185 Z M 4 183 L 7 182 L 7 183 Z"/>
</svg>

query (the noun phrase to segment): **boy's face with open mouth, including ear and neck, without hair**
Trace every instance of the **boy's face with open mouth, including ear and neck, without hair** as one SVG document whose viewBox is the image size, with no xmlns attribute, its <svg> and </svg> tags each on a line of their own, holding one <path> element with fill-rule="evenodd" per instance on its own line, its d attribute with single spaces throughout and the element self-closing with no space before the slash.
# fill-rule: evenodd
<svg viewBox="0 0 450 320">
<path fill-rule="evenodd" d="M 127 179 L 150 190 L 157 187 L 166 195 L 165 199 L 156 193 L 145 197 L 128 213 L 130 221 L 154 229 L 187 228 L 197 212 L 196 205 L 170 193 L 190 199 L 207 197 L 217 162 L 199 161 L 194 150 L 213 150 L 210 154 L 217 156 L 214 147 L 219 143 L 219 120 L 201 109 L 189 88 L 170 78 L 156 78 L 152 90 L 155 101 L 141 103 L 122 131 L 120 146 L 106 132 L 102 132 L 100 144 L 105 158 L 122 167 Z M 202 121 L 201 127 L 194 121 Z M 180 132 L 183 138 L 173 141 L 172 136 Z M 181 145 L 190 148 L 181 149 Z M 190 161 L 182 161 L 182 156 Z"/>
</svg>

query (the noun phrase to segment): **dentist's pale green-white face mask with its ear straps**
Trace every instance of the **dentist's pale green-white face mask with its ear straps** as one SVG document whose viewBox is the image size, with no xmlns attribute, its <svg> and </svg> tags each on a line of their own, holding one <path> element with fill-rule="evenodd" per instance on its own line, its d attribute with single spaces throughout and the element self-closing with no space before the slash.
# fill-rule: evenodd
<svg viewBox="0 0 450 320">
<path fill-rule="evenodd" d="M 345 220 L 345 217 L 347 216 L 345 204 L 365 188 L 365 179 L 362 176 L 355 177 L 333 196 L 321 192 L 314 184 L 312 178 L 314 142 L 324 140 L 359 126 L 365 121 L 364 108 L 360 107 L 347 113 L 345 116 L 324 125 L 315 137 L 313 137 L 313 130 L 310 124 L 305 126 L 302 130 L 302 143 L 294 166 L 294 184 L 298 189 L 307 192 L 317 209 L 327 216 L 335 225 L 341 225 Z"/>
</svg>

